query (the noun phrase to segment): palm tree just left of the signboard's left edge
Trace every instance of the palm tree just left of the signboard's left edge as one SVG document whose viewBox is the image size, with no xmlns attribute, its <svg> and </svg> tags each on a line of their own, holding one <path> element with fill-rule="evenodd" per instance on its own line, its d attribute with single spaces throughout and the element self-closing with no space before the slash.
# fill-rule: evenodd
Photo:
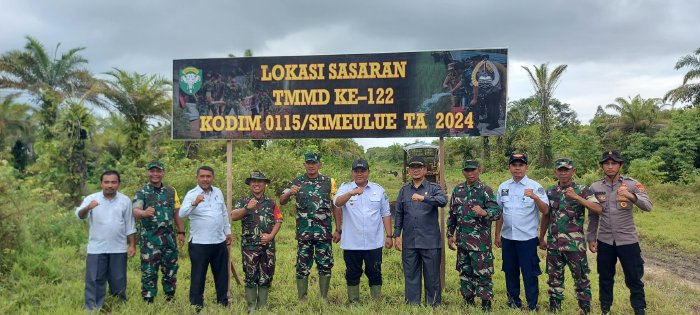
<svg viewBox="0 0 700 315">
<path fill-rule="evenodd" d="M 172 100 L 168 96 L 170 81 L 158 75 L 146 75 L 114 68 L 112 77 L 100 91 L 108 103 L 102 106 L 116 111 L 126 120 L 125 155 L 135 158 L 147 144 L 149 121 L 168 118 Z"/>
</svg>

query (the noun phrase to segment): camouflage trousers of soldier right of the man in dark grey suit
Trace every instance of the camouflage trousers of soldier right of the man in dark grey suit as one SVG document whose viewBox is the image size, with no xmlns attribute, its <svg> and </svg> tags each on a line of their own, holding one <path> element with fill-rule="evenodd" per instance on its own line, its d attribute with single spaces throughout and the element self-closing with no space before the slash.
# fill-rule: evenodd
<svg viewBox="0 0 700 315">
<path fill-rule="evenodd" d="M 459 291 L 464 299 L 493 300 L 493 253 L 457 249 Z"/>
</svg>

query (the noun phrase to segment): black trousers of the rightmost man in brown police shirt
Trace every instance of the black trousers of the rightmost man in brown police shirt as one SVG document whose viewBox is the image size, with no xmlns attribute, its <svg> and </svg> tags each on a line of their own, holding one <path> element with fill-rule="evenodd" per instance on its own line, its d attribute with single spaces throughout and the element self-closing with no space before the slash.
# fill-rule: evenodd
<svg viewBox="0 0 700 315">
<path fill-rule="evenodd" d="M 600 306 L 610 309 L 613 302 L 613 286 L 615 284 L 615 265 L 620 259 L 622 271 L 625 273 L 625 284 L 630 290 L 630 304 L 634 309 L 647 307 L 644 297 L 644 260 L 639 243 L 628 245 L 612 245 L 598 241 L 598 276 L 600 280 Z"/>
</svg>

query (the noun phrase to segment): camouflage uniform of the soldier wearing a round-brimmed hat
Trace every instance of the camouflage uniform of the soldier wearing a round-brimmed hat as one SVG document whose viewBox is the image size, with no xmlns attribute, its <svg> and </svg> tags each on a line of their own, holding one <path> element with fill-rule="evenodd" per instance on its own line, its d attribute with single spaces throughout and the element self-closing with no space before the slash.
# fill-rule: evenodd
<svg viewBox="0 0 700 315">
<path fill-rule="evenodd" d="M 253 194 L 236 201 L 234 209 L 245 208 L 255 198 Z M 260 243 L 262 233 L 272 232 L 275 223 L 282 222 L 282 213 L 274 200 L 263 196 L 254 211 L 248 211 L 241 223 L 241 256 L 245 271 L 245 286 L 270 287 L 275 274 L 275 241 Z"/>
</svg>

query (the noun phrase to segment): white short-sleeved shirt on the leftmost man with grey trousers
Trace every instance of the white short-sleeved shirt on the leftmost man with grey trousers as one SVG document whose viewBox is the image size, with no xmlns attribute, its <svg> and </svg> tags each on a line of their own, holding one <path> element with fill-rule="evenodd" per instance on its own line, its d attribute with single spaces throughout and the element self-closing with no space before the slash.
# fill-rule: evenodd
<svg viewBox="0 0 700 315">
<path fill-rule="evenodd" d="M 134 216 L 131 213 L 131 199 L 117 192 L 114 198 L 105 198 L 102 192 L 85 197 L 83 203 L 75 209 L 75 216 L 80 219 L 78 212 L 87 207 L 91 201 L 97 200 L 99 205 L 93 208 L 85 217 L 90 224 L 88 232 L 88 254 L 117 254 L 126 253 L 126 237 L 136 233 Z"/>
</svg>

